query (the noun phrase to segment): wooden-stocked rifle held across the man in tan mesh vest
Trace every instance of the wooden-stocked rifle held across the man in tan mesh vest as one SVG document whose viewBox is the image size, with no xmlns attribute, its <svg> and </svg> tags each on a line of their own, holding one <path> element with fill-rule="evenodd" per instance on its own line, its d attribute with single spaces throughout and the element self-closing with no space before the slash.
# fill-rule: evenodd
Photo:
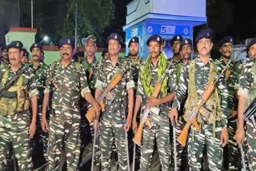
<svg viewBox="0 0 256 171">
<path fill-rule="evenodd" d="M 231 62 L 231 61 L 230 61 Z M 194 128 L 196 130 L 200 130 L 200 127 L 198 125 L 198 122 L 196 121 L 198 112 L 202 114 L 203 117 L 206 117 L 206 119 L 208 117 L 210 117 L 210 112 L 207 111 L 206 109 L 204 109 L 202 107 L 202 105 L 204 105 L 206 103 L 206 101 L 208 101 L 208 99 L 210 98 L 210 95 L 214 92 L 215 89 L 215 85 L 218 82 L 218 79 L 221 78 L 222 74 L 225 72 L 226 68 L 228 66 L 230 66 L 230 62 L 225 66 L 224 70 L 222 70 L 222 73 L 218 75 L 218 78 L 214 78 L 214 80 L 212 82 L 210 82 L 206 89 L 204 90 L 204 92 L 202 93 L 202 97 L 200 97 L 198 103 L 196 106 L 194 106 L 194 108 L 192 109 L 192 111 L 190 112 L 188 121 L 186 121 L 186 125 L 184 126 L 184 128 L 182 129 L 182 133 L 178 136 L 178 142 L 185 147 L 186 146 L 186 139 L 188 137 L 188 133 L 189 133 L 189 129 L 190 129 L 190 125 L 194 125 Z"/>
</svg>

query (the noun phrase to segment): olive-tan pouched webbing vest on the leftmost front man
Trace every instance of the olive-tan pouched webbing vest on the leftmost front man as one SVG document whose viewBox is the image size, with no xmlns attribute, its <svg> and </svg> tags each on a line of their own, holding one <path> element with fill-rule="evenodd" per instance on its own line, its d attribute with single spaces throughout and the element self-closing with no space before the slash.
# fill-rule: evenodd
<svg viewBox="0 0 256 171">
<path fill-rule="evenodd" d="M 8 80 L 9 70 L 6 70 L 2 79 L 2 86 L 6 85 Z M 7 91 L 16 92 L 15 98 L 0 97 L 0 115 L 14 115 L 17 112 L 26 111 L 29 109 L 29 93 L 22 86 L 23 76 L 19 76 L 17 85 L 11 86 Z"/>
</svg>

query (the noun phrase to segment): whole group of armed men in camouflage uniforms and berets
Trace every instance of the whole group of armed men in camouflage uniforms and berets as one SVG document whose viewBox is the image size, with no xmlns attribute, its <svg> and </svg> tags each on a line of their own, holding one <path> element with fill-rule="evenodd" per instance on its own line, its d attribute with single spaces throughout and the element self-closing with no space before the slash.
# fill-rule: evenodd
<svg viewBox="0 0 256 171">
<path fill-rule="evenodd" d="M 214 61 L 213 31 L 201 30 L 193 59 L 190 38 L 175 35 L 166 59 L 161 36 L 152 35 L 142 62 L 137 37 L 120 58 L 121 37 L 110 34 L 102 60 L 94 36 L 77 58 L 74 38 L 63 38 L 51 66 L 40 43 L 28 63 L 22 42 L 11 42 L 0 70 L 0 170 L 32 170 L 40 143 L 49 171 L 108 171 L 113 161 L 118 170 L 256 170 L 256 38 L 245 64 L 231 59 L 233 42 L 218 41 Z M 81 169 L 91 141 L 91 168 Z"/>
</svg>

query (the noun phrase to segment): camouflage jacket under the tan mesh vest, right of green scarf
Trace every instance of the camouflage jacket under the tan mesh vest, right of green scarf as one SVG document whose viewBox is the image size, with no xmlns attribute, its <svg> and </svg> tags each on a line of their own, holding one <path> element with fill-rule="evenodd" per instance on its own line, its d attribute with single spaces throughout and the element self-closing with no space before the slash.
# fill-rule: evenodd
<svg viewBox="0 0 256 171">
<path fill-rule="evenodd" d="M 206 89 L 209 78 L 210 78 L 210 63 L 214 62 L 211 58 L 209 62 L 205 65 L 202 63 L 200 58 L 195 58 L 195 82 L 196 82 L 196 89 L 198 93 L 198 97 L 202 96 L 202 93 Z M 178 84 L 178 89 L 176 91 L 176 97 L 174 98 L 173 107 L 180 108 L 181 102 L 186 97 L 186 92 L 189 88 L 189 70 L 190 70 L 190 63 L 186 64 L 183 67 L 182 75 L 180 83 Z M 228 98 L 228 91 L 226 89 L 226 84 L 224 82 L 224 76 L 218 80 L 216 87 L 219 90 L 219 94 L 221 96 L 221 108 L 222 108 L 222 126 L 227 126 L 227 117 L 229 113 L 227 111 L 227 98 Z M 195 99 L 196 100 L 196 99 Z"/>
</svg>

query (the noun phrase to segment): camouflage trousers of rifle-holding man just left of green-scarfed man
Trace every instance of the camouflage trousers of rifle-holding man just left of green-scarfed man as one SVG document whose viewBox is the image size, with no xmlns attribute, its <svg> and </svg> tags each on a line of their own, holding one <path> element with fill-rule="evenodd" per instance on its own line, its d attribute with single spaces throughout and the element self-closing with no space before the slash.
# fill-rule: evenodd
<svg viewBox="0 0 256 171">
<path fill-rule="evenodd" d="M 103 119 L 100 124 L 100 152 L 102 171 L 110 170 L 113 141 L 118 152 L 118 170 L 127 170 L 126 133 L 121 121 Z"/>
</svg>

